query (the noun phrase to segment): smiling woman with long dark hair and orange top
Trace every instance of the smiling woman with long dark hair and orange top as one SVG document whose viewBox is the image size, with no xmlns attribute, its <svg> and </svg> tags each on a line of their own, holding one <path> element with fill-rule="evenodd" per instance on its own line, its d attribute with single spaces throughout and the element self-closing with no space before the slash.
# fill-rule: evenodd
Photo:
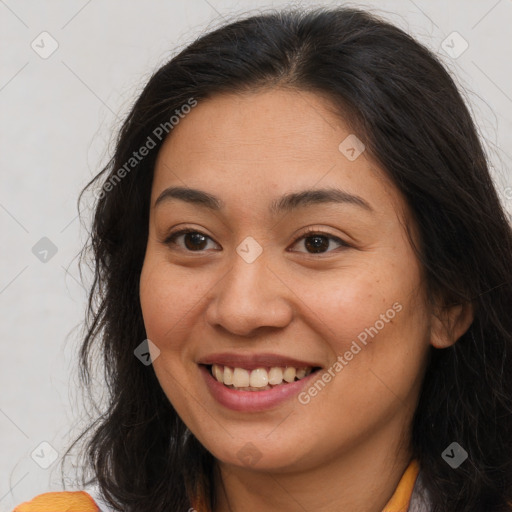
<svg viewBox="0 0 512 512">
<path fill-rule="evenodd" d="M 512 510 L 512 232 L 425 47 L 350 8 L 221 27 L 96 182 L 93 475 L 17 510 Z"/>
</svg>

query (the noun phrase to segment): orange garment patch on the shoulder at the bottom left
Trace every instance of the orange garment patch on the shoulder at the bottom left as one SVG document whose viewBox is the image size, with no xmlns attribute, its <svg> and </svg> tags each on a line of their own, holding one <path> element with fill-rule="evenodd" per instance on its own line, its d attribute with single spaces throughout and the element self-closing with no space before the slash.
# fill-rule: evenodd
<svg viewBox="0 0 512 512">
<path fill-rule="evenodd" d="M 38 494 L 20 503 L 12 512 L 102 512 L 86 491 L 60 491 Z"/>
</svg>

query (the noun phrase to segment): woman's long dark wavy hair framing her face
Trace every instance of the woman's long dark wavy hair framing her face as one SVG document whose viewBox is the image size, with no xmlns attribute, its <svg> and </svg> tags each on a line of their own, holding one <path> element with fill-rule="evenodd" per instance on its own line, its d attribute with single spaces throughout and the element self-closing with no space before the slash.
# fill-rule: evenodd
<svg viewBox="0 0 512 512">
<path fill-rule="evenodd" d="M 78 200 L 80 208 L 84 192 L 102 184 L 81 254 L 92 251 L 94 283 L 80 377 L 90 390 L 101 362 L 108 396 L 71 448 L 90 434 L 83 467 L 114 507 L 187 510 L 200 496 L 213 509 L 213 456 L 178 417 L 152 366 L 134 356 L 146 338 L 138 287 L 153 168 L 162 135 L 172 136 L 171 116 L 191 99 L 275 86 L 330 100 L 410 206 L 430 296 L 474 306 L 457 343 L 431 348 L 413 420 L 413 455 L 432 510 L 510 510 L 511 226 L 450 74 L 411 36 L 354 8 L 270 11 L 231 22 L 158 69 L 134 103 L 114 156 Z M 130 160 L 148 137 L 154 147 L 147 156 Z M 102 359 L 93 357 L 95 342 Z M 442 457 L 454 441 L 469 455 L 457 469 Z"/>
</svg>

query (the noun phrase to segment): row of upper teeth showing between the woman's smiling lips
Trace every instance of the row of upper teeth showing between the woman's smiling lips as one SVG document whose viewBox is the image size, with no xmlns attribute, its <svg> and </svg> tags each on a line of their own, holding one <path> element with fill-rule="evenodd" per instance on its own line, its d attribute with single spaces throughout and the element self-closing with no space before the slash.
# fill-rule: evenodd
<svg viewBox="0 0 512 512">
<path fill-rule="evenodd" d="M 255 368 L 253 370 L 233 368 L 219 364 L 205 366 L 217 382 L 224 384 L 227 388 L 238 391 L 266 391 L 301 380 L 311 373 L 320 370 L 319 366 L 302 368 L 273 366 Z"/>
</svg>

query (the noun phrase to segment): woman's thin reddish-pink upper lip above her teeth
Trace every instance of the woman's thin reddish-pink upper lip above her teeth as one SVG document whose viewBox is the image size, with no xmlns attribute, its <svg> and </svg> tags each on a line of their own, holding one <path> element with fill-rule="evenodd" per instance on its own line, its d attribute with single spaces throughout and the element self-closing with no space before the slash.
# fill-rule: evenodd
<svg viewBox="0 0 512 512">
<path fill-rule="evenodd" d="M 245 368 L 246 370 L 271 368 L 273 366 L 293 366 L 294 368 L 315 368 L 320 366 L 315 362 L 303 361 L 279 354 L 236 354 L 234 352 L 210 354 L 201 358 L 198 364 L 218 364 L 229 366 L 230 368 Z"/>
</svg>

